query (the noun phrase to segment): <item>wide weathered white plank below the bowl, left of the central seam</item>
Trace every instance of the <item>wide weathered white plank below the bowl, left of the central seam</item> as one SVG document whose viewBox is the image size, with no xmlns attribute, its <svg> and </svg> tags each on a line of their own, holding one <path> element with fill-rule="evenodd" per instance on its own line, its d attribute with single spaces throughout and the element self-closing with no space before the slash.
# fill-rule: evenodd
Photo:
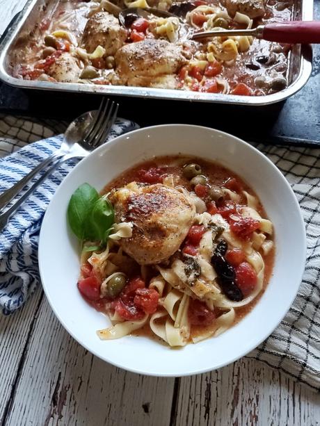
<svg viewBox="0 0 320 426">
<path fill-rule="evenodd" d="M 94 357 L 67 334 L 45 301 L 7 425 L 169 425 L 174 382 Z"/>
</svg>

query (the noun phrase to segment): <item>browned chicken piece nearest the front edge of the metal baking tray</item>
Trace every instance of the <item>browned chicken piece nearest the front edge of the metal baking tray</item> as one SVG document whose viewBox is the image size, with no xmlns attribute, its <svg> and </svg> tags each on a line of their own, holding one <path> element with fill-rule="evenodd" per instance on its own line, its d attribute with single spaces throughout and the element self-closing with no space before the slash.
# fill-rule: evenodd
<svg viewBox="0 0 320 426">
<path fill-rule="evenodd" d="M 133 79 L 150 78 L 175 74 L 186 63 L 182 47 L 166 40 L 146 39 L 126 44 L 115 54 L 115 71 L 126 84 Z"/>
</svg>

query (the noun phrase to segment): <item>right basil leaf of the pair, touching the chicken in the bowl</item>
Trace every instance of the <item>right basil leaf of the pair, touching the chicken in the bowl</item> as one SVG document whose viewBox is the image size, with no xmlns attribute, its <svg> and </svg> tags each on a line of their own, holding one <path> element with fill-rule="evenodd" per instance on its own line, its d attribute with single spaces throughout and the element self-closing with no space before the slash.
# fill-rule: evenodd
<svg viewBox="0 0 320 426">
<path fill-rule="evenodd" d="M 87 240 L 106 243 L 107 231 L 114 222 L 113 206 L 109 199 L 101 197 L 95 201 L 86 222 L 85 236 Z"/>
</svg>

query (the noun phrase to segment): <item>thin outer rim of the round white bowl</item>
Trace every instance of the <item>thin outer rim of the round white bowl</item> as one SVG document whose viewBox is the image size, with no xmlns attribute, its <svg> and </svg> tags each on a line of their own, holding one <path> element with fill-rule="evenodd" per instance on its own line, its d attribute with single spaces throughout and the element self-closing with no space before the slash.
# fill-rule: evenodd
<svg viewBox="0 0 320 426">
<path fill-rule="evenodd" d="M 264 161 L 266 161 L 266 163 L 269 163 L 269 166 L 272 167 L 273 172 L 275 172 L 275 174 L 277 174 L 278 179 L 281 179 L 283 181 L 283 183 L 285 183 L 287 190 L 291 193 L 292 199 L 293 199 L 294 204 L 295 204 L 296 212 L 298 213 L 299 226 L 301 227 L 301 230 L 303 230 L 303 233 L 302 233 L 303 244 L 301 245 L 301 263 L 297 267 L 297 272 L 296 272 L 296 277 L 297 277 L 296 282 L 297 283 L 299 282 L 300 284 L 299 285 L 296 284 L 296 290 L 294 291 L 294 293 L 292 293 L 291 297 L 286 299 L 287 302 L 285 303 L 281 318 L 278 318 L 275 322 L 272 322 L 272 324 L 271 324 L 271 322 L 268 322 L 269 327 L 265 326 L 264 333 L 262 333 L 262 336 L 260 336 L 260 338 L 258 338 L 255 341 L 254 345 L 251 344 L 248 349 L 244 350 L 244 352 L 241 352 L 241 355 L 237 354 L 236 356 L 232 357 L 231 359 L 227 359 L 227 361 L 223 361 L 221 363 L 218 363 L 218 365 L 211 367 L 211 368 L 198 368 L 198 369 L 189 370 L 187 372 L 182 372 L 182 373 L 179 373 L 179 374 L 174 374 L 174 373 L 171 373 L 171 372 L 157 373 L 157 372 L 150 372 L 150 371 L 142 371 L 141 369 L 134 368 L 134 367 L 131 367 L 131 366 L 124 366 L 122 363 L 118 363 L 117 361 L 106 359 L 106 357 L 103 356 L 104 354 L 99 354 L 99 352 L 97 352 L 97 350 L 93 350 L 92 348 L 89 347 L 89 345 L 86 345 L 86 343 L 83 343 L 83 341 L 81 341 L 79 338 L 77 338 L 74 331 L 70 330 L 70 327 L 68 327 L 65 324 L 65 321 L 63 320 L 63 318 L 61 318 L 60 314 L 58 313 L 58 310 L 55 306 L 55 303 L 51 300 L 51 296 L 49 294 L 49 288 L 47 288 L 47 286 L 45 286 L 45 281 L 43 279 L 44 271 L 42 270 L 42 256 L 43 256 L 42 253 L 44 253 L 44 251 L 42 250 L 42 244 L 43 244 L 42 241 L 43 241 L 43 234 L 45 233 L 45 227 L 46 227 L 46 224 L 47 224 L 47 216 L 48 216 L 47 211 L 50 210 L 51 205 L 54 203 L 54 199 L 56 198 L 56 195 L 63 190 L 64 181 L 66 181 L 67 179 L 70 179 L 70 175 L 72 175 L 74 173 L 74 170 L 76 170 L 77 167 L 83 167 L 83 165 L 82 166 L 79 166 L 79 165 L 81 163 L 83 164 L 83 162 L 86 162 L 86 159 L 89 158 L 90 156 L 96 156 L 101 151 L 104 151 L 104 149 L 106 149 L 106 145 L 108 145 L 108 146 L 115 145 L 118 142 L 118 140 L 121 140 L 122 138 L 127 138 L 129 135 L 132 135 L 134 133 L 135 134 L 147 133 L 148 131 L 158 131 L 158 130 L 161 130 L 163 128 L 173 128 L 173 127 L 174 128 L 182 128 L 182 127 L 193 128 L 195 130 L 197 130 L 197 129 L 199 129 L 200 131 L 205 130 L 205 131 L 209 131 L 211 133 L 216 133 L 217 135 L 223 135 L 227 138 L 232 138 L 234 140 L 237 140 L 237 143 L 245 145 L 246 149 L 250 149 L 251 151 L 255 151 L 255 154 L 258 154 L 259 156 L 261 156 L 264 159 Z M 182 153 L 182 155 L 183 155 L 183 153 Z M 201 158 L 200 153 L 199 153 L 199 157 Z M 209 159 L 209 161 L 210 161 L 210 159 Z M 124 171 L 125 170 L 122 170 L 122 172 L 124 172 Z M 120 173 L 121 173 L 121 171 L 119 172 L 119 174 Z M 207 126 L 199 126 L 199 125 L 193 125 L 193 124 L 159 124 L 159 125 L 155 125 L 155 126 L 142 127 L 140 129 L 136 129 L 134 131 L 130 131 L 130 132 L 127 132 L 127 133 L 122 133 L 122 135 L 117 136 L 117 137 L 113 138 L 112 140 L 110 140 L 109 142 L 106 142 L 103 145 L 97 147 L 94 151 L 92 151 L 90 154 L 88 154 L 88 156 L 83 158 L 83 160 L 79 161 L 79 163 L 77 163 L 77 165 L 75 165 L 73 167 L 73 169 L 70 171 L 70 173 L 67 174 L 67 176 L 61 182 L 61 184 L 58 186 L 58 189 L 56 190 L 54 196 L 52 197 L 51 201 L 49 202 L 49 205 L 47 206 L 47 211 L 45 212 L 45 216 L 42 220 L 41 229 L 40 229 L 39 246 L 38 246 L 38 264 L 39 264 L 40 281 L 41 281 L 41 284 L 42 284 L 42 288 L 45 292 L 45 295 L 47 297 L 47 300 L 49 302 L 49 305 L 50 305 L 52 311 L 54 311 L 56 318 L 58 318 L 59 322 L 61 322 L 61 325 L 67 331 L 67 333 L 70 334 L 70 336 L 72 336 L 72 338 L 74 338 L 74 340 L 77 341 L 77 343 L 79 343 L 79 345 L 81 345 L 86 350 L 88 350 L 88 352 L 90 352 L 91 354 L 94 354 L 99 359 L 102 359 L 103 361 L 110 363 L 111 365 L 113 365 L 115 367 L 122 368 L 124 370 L 129 371 L 129 372 L 134 372 L 134 373 L 141 374 L 141 375 L 147 375 L 147 376 L 152 376 L 152 377 L 186 377 L 186 376 L 190 376 L 190 375 L 198 375 L 198 374 L 202 374 L 202 373 L 205 373 L 205 372 L 218 370 L 219 368 L 230 365 L 231 363 L 234 363 L 234 361 L 237 361 L 237 360 L 241 359 L 242 357 L 245 357 L 246 354 L 248 354 L 252 350 L 255 350 L 256 347 L 258 347 L 264 340 L 266 340 L 266 338 L 268 338 L 273 333 L 273 331 L 278 327 L 278 325 L 283 320 L 283 318 L 285 318 L 285 316 L 287 315 L 287 312 L 289 311 L 292 303 L 294 302 L 294 299 L 296 298 L 296 294 L 298 293 L 298 288 L 301 285 L 303 272 L 305 270 L 305 259 L 306 259 L 306 252 L 307 252 L 305 222 L 303 220 L 301 208 L 298 204 L 298 199 L 296 198 L 294 190 L 292 190 L 292 188 L 291 188 L 289 182 L 287 181 L 287 179 L 285 178 L 285 176 L 282 174 L 282 172 L 280 172 L 278 167 L 276 167 L 273 164 L 273 162 L 265 154 L 263 154 L 261 151 L 259 151 L 259 149 L 253 147 L 253 145 L 250 145 L 248 142 L 246 142 L 246 141 L 244 141 L 240 138 L 237 138 L 237 136 L 233 136 L 230 133 L 220 131 L 218 129 L 212 129 L 211 127 L 207 127 Z"/>
</svg>

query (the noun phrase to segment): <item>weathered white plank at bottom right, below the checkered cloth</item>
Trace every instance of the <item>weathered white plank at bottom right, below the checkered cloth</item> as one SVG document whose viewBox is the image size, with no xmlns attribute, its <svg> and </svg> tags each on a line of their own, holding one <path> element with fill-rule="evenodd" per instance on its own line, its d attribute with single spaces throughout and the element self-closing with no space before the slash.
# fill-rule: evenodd
<svg viewBox="0 0 320 426">
<path fill-rule="evenodd" d="M 179 384 L 175 425 L 320 425 L 320 395 L 259 361 L 241 359 Z"/>
</svg>

